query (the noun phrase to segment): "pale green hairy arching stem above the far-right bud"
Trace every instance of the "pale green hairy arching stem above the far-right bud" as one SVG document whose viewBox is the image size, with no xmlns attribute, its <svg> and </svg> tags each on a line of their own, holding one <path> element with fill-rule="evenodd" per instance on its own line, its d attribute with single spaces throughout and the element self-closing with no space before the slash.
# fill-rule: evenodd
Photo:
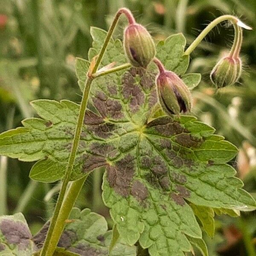
<svg viewBox="0 0 256 256">
<path fill-rule="evenodd" d="M 215 26 L 217 26 L 219 23 L 225 20 L 229 20 L 233 24 L 234 28 L 236 29 L 236 26 L 237 26 L 236 24 L 239 22 L 239 19 L 233 15 L 222 15 L 217 19 L 213 20 L 211 23 L 209 23 L 209 25 L 198 35 L 195 41 L 193 41 L 192 44 L 190 44 L 190 46 L 186 49 L 186 51 L 184 52 L 184 55 L 189 55 Z M 234 44 L 235 44 L 235 41 L 233 43 L 233 47 L 236 46 L 236 45 L 234 46 Z"/>
</svg>

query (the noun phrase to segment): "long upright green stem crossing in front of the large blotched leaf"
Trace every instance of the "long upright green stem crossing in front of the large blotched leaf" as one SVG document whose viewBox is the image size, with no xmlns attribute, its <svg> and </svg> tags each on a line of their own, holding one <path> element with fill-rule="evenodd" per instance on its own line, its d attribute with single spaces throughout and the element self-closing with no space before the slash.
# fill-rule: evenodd
<svg viewBox="0 0 256 256">
<path fill-rule="evenodd" d="M 131 15 L 130 11 L 128 11 L 128 9 L 125 9 L 125 8 L 120 9 L 116 13 L 116 16 L 113 20 L 113 23 L 111 24 L 111 27 L 108 30 L 108 34 L 105 38 L 102 49 L 99 52 L 96 64 L 93 67 L 92 74 L 96 73 L 97 70 L 98 70 L 99 64 L 101 63 L 103 55 L 105 53 L 105 50 L 108 46 L 108 42 L 111 39 L 111 36 L 112 36 L 113 31 L 116 27 L 116 23 L 119 19 L 119 16 L 122 13 L 124 13 L 126 16 L 128 14 Z M 128 20 L 129 20 L 129 18 L 128 18 Z M 131 21 L 132 20 L 131 20 L 131 17 L 130 17 L 129 22 L 131 22 Z M 81 100 L 81 105 L 80 105 L 79 116 L 78 116 L 78 121 L 77 121 L 77 125 L 76 125 L 76 131 L 75 131 L 75 135 L 74 135 L 73 145 L 72 145 L 72 148 L 71 148 L 70 157 L 69 157 L 68 164 L 67 164 L 67 170 L 66 170 L 64 178 L 63 178 L 61 191 L 59 193 L 58 200 L 57 200 L 57 203 L 55 205 L 55 209 L 54 209 L 52 219 L 51 219 L 51 222 L 50 222 L 50 225 L 49 225 L 49 230 L 47 232 L 47 236 L 46 236 L 46 239 L 45 239 L 45 242 L 44 242 L 44 246 L 43 246 L 41 254 L 40 254 L 41 256 L 51 256 L 54 253 L 54 250 L 55 250 L 55 248 L 58 244 L 58 240 L 61 236 L 61 232 L 62 232 L 62 230 L 64 228 L 64 225 L 65 225 L 64 218 L 62 218 L 62 215 L 60 215 L 61 209 L 63 209 L 63 211 L 65 212 L 65 215 L 69 216 L 69 214 L 70 214 L 70 211 L 66 212 L 67 209 L 66 209 L 65 204 L 67 204 L 67 201 L 65 201 L 64 204 L 62 204 L 62 203 L 63 203 L 63 200 L 64 200 L 65 192 L 67 190 L 68 182 L 70 180 L 70 175 L 71 175 L 71 172 L 72 172 L 72 169 L 73 169 L 73 165 L 74 165 L 75 159 L 76 159 L 76 152 L 77 152 L 77 148 L 78 148 L 78 145 L 79 145 L 81 129 L 82 129 L 82 125 L 83 125 L 83 122 L 84 122 L 84 115 L 85 115 L 85 111 L 86 111 L 86 106 L 87 106 L 87 101 L 88 101 L 92 81 L 93 81 L 93 77 L 92 76 L 90 76 L 90 77 L 87 76 L 87 80 L 85 81 L 85 86 L 84 86 L 83 97 L 82 97 L 82 100 Z M 86 178 L 84 178 L 84 180 L 85 179 Z M 82 186 L 83 183 L 81 183 L 80 185 Z M 70 186 L 70 189 L 73 189 L 73 187 Z M 81 189 L 81 187 L 80 187 L 80 189 Z M 80 189 L 79 189 L 79 191 L 80 191 Z M 76 192 L 77 192 L 77 190 L 78 189 L 76 188 Z M 61 227 L 61 228 L 59 228 L 58 226 Z"/>
</svg>

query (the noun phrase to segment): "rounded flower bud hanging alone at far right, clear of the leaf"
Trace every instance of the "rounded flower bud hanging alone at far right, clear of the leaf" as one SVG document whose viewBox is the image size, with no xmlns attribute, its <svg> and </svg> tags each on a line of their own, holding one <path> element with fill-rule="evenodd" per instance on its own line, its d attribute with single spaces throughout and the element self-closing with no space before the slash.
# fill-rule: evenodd
<svg viewBox="0 0 256 256">
<path fill-rule="evenodd" d="M 218 88 L 235 84 L 241 76 L 242 63 L 239 57 L 224 57 L 213 68 L 210 78 Z"/>
</svg>

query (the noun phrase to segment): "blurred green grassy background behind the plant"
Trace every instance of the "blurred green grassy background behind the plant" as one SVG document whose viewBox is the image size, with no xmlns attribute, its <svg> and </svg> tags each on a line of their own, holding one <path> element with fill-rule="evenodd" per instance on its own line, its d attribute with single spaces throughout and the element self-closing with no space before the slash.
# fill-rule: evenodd
<svg viewBox="0 0 256 256">
<path fill-rule="evenodd" d="M 192 113 L 239 148 L 230 164 L 256 198 L 256 1 L 255 0 L 0 0 L 0 132 L 33 116 L 33 99 L 79 102 L 75 57 L 87 58 L 90 26 L 108 29 L 120 7 L 128 7 L 155 41 L 182 32 L 190 44 L 209 21 L 233 14 L 254 28 L 244 31 L 242 77 L 215 93 L 209 73 L 232 45 L 233 28 L 216 27 L 192 53 L 189 72 L 202 74 L 193 91 Z M 115 37 L 122 38 L 125 19 Z M 58 183 L 29 180 L 32 163 L 0 157 L 0 215 L 22 211 L 33 233 L 50 217 Z M 104 215 L 101 175 L 87 180 L 76 206 Z M 215 217 L 215 236 L 207 238 L 210 256 L 256 256 L 256 214 Z M 196 254 L 200 255 L 200 254 Z"/>
</svg>

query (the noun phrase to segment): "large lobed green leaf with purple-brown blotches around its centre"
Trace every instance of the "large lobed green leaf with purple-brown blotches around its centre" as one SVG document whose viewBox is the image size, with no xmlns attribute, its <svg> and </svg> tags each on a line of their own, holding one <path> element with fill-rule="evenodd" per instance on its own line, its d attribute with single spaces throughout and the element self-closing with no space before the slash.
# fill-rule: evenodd
<svg viewBox="0 0 256 256">
<path fill-rule="evenodd" d="M 106 35 L 96 28 L 91 33 L 89 59 L 99 53 Z M 186 72 L 189 61 L 183 56 L 185 44 L 183 35 L 177 34 L 157 45 L 157 57 L 179 75 Z M 102 65 L 111 62 L 126 62 L 119 40 L 111 40 Z M 87 61 L 79 59 L 76 72 L 81 84 L 86 68 Z M 234 145 L 193 116 L 152 113 L 158 104 L 156 74 L 157 68 L 150 64 L 147 70 L 131 68 L 93 81 L 72 179 L 105 167 L 103 200 L 120 241 L 129 246 L 139 241 L 151 256 L 183 256 L 192 244 L 207 255 L 190 204 L 247 211 L 256 209 L 256 202 L 227 165 L 236 156 Z M 198 83 L 195 74 L 185 79 L 191 87 Z M 67 165 L 79 105 L 66 100 L 32 105 L 41 119 L 27 119 L 24 128 L 1 134 L 0 154 L 40 160 L 30 176 L 54 181 Z M 82 232 L 79 239 L 84 236 Z"/>
</svg>

